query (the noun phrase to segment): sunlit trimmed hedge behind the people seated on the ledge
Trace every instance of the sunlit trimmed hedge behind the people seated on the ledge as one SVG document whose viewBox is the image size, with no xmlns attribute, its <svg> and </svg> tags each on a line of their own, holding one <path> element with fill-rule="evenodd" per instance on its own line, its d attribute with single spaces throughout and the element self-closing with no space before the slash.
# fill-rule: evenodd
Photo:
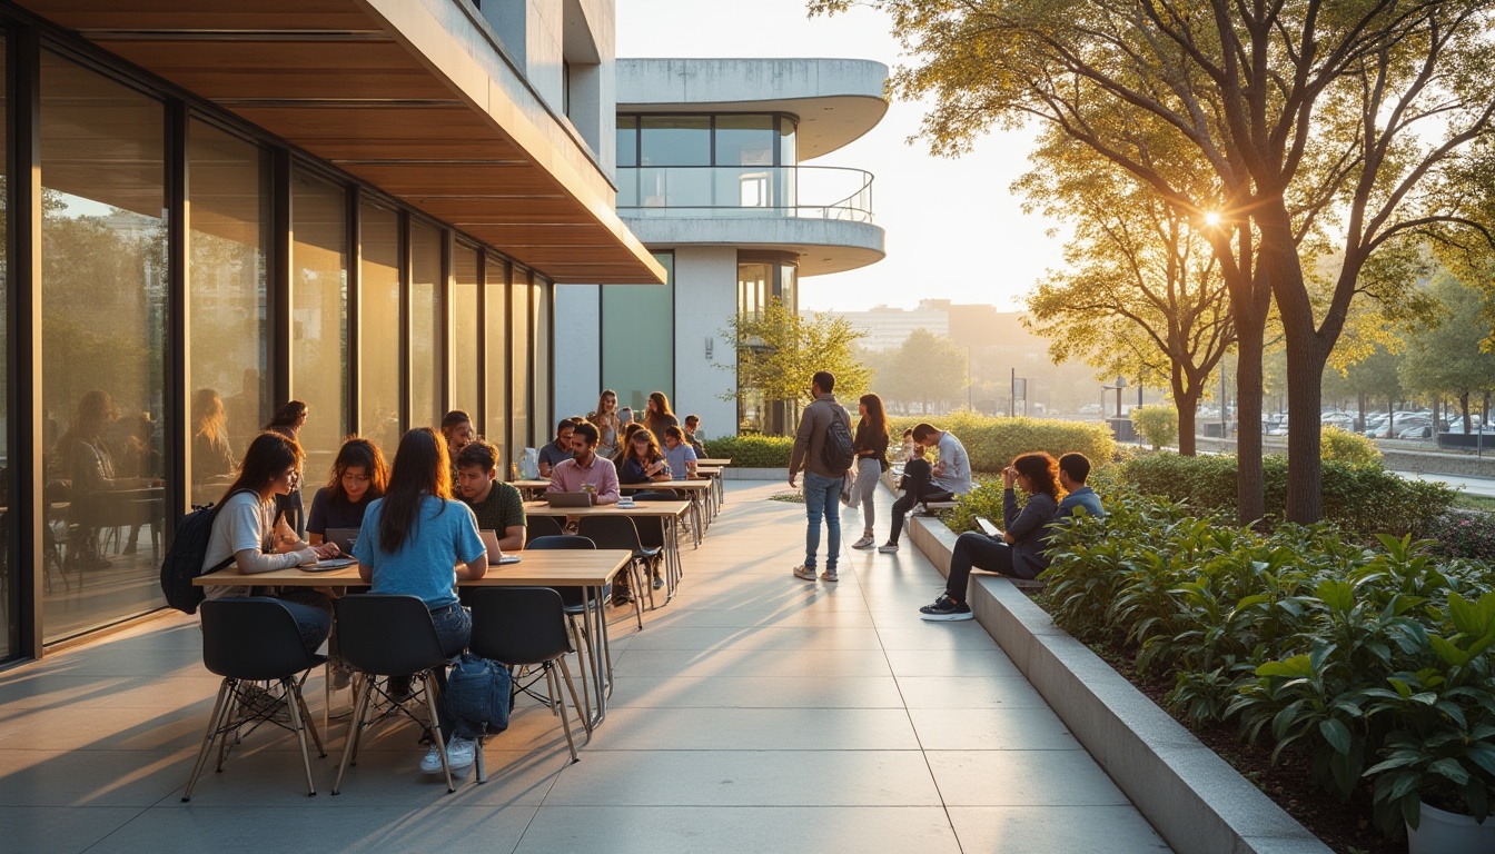
<svg viewBox="0 0 1495 854">
<path fill-rule="evenodd" d="M 1045 450 L 1055 458 L 1061 453 L 1079 452 L 1090 458 L 1091 465 L 1102 467 L 1115 456 L 1117 443 L 1106 425 L 1085 422 L 1061 422 L 1054 419 L 1009 419 L 984 416 L 960 410 L 946 416 L 907 416 L 888 419 L 888 432 L 894 444 L 904 429 L 919 422 L 928 422 L 939 429 L 955 434 L 970 455 L 972 471 L 1000 473 L 1020 453 Z M 931 456 L 933 461 L 933 456 Z"/>
</svg>

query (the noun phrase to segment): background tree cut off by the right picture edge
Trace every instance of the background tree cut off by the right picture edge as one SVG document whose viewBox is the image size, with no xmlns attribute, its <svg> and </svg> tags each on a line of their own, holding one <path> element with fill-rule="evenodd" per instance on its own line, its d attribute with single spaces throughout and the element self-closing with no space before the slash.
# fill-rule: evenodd
<svg viewBox="0 0 1495 854">
<path fill-rule="evenodd" d="M 1470 393 L 1495 389 L 1495 353 L 1480 348 L 1491 335 L 1482 314 L 1485 295 L 1444 274 L 1432 281 L 1432 296 L 1443 304 L 1443 317 L 1407 334 L 1401 378 L 1414 392 L 1458 398 L 1464 432 L 1470 432 Z"/>
</svg>

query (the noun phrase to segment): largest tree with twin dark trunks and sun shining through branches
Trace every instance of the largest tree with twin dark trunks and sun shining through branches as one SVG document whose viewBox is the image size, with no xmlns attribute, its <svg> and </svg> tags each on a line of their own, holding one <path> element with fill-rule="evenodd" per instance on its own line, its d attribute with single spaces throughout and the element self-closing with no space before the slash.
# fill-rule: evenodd
<svg viewBox="0 0 1495 854">
<path fill-rule="evenodd" d="M 924 136 L 936 153 L 1036 118 L 1208 226 L 1239 340 L 1242 519 L 1263 512 L 1257 392 L 1271 301 L 1290 408 L 1317 413 L 1323 366 L 1375 253 L 1444 223 L 1489 233 L 1440 190 L 1491 132 L 1495 0 L 869 1 L 918 63 L 891 88 L 933 100 Z M 1316 311 L 1299 253 L 1331 245 L 1343 263 Z M 1313 522 L 1319 423 L 1290 425 L 1287 517 Z"/>
</svg>

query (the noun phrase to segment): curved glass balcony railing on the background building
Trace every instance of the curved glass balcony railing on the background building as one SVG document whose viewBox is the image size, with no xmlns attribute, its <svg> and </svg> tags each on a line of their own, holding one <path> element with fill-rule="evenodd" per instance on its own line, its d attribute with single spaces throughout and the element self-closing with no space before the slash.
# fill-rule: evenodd
<svg viewBox="0 0 1495 854">
<path fill-rule="evenodd" d="M 626 166 L 625 217 L 872 221 L 872 173 L 840 166 Z"/>
</svg>

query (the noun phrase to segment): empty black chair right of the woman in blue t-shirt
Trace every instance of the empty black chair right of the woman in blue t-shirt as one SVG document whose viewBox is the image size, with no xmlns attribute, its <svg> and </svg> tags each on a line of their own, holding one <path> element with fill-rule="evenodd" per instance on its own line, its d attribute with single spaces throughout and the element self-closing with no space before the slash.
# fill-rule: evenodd
<svg viewBox="0 0 1495 854">
<path fill-rule="evenodd" d="M 576 683 L 565 657 L 571 649 L 571 636 L 565 628 L 561 594 L 552 588 L 478 588 L 472 597 L 472 639 L 468 642 L 472 655 L 502 661 L 510 667 L 541 667 L 553 706 L 559 707 L 565 743 L 571 749 L 571 761 L 577 761 L 576 739 L 571 737 L 571 718 L 561 695 L 561 678 L 565 678 L 571 706 L 580 712 Z M 514 688 L 520 688 L 516 685 Z M 582 718 L 586 734 L 592 734 L 591 716 Z M 477 779 L 487 779 L 483 767 L 483 751 L 477 751 Z"/>
</svg>

